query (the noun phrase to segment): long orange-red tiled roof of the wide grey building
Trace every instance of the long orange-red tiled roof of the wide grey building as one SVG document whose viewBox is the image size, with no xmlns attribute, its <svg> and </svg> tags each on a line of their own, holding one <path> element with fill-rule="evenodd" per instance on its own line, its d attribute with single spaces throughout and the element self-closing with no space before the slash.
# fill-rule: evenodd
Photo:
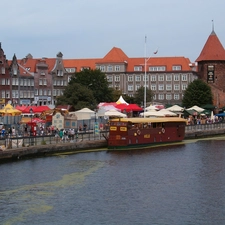
<svg viewBox="0 0 225 225">
<path fill-rule="evenodd" d="M 45 62 L 48 65 L 49 73 L 54 68 L 56 58 L 45 58 L 45 59 L 34 59 L 27 58 L 26 60 L 18 60 L 18 63 L 24 68 L 20 68 L 21 74 L 25 74 L 26 69 L 29 68 L 30 73 L 36 72 L 36 65 L 40 61 Z M 126 72 L 134 72 L 135 66 L 142 66 L 144 71 L 145 58 L 129 58 L 120 48 L 112 48 L 104 58 L 94 59 L 63 59 L 63 65 L 65 68 L 76 68 L 76 71 L 81 71 L 84 67 L 95 69 L 96 64 L 107 64 L 107 63 L 126 63 Z M 181 66 L 182 71 L 191 70 L 190 60 L 183 56 L 180 57 L 152 57 L 146 63 L 147 71 L 149 66 L 165 66 L 166 71 L 172 71 L 172 66 Z M 26 73 L 28 75 L 28 73 Z"/>
</svg>

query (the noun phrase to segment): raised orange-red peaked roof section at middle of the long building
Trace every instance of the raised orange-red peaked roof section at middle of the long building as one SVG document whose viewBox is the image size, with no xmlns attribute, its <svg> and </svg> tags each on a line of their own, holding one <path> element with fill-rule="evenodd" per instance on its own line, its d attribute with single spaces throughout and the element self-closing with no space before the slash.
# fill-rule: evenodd
<svg viewBox="0 0 225 225">
<path fill-rule="evenodd" d="M 120 49 L 113 47 L 103 59 L 100 60 L 100 63 L 109 63 L 109 62 L 115 62 L 119 63 L 122 62 L 124 63 L 125 61 L 128 60 L 128 56 Z"/>
</svg>

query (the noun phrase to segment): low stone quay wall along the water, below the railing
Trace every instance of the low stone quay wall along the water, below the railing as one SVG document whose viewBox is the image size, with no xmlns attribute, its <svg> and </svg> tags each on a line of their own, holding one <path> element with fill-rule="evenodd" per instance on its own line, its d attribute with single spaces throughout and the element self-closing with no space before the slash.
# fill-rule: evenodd
<svg viewBox="0 0 225 225">
<path fill-rule="evenodd" d="M 225 125 L 225 124 L 224 124 Z M 200 128 L 200 127 L 198 127 Z M 225 127 L 219 126 L 215 129 L 186 129 L 185 139 L 192 138 L 202 138 L 215 135 L 225 134 Z M 66 143 L 51 143 L 43 145 L 29 145 L 27 147 L 18 148 L 6 148 L 0 150 L 0 161 L 6 160 L 18 160 L 21 158 L 28 157 L 39 157 L 52 155 L 55 153 L 79 153 L 79 152 L 90 152 L 90 151 L 102 151 L 107 150 L 107 141 L 105 139 L 101 140 L 78 140 L 76 142 L 66 142 Z"/>
</svg>

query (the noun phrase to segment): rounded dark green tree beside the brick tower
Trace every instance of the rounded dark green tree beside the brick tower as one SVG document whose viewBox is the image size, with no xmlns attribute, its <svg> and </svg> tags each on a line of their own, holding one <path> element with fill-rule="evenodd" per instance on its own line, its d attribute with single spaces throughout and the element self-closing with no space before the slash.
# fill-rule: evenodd
<svg viewBox="0 0 225 225">
<path fill-rule="evenodd" d="M 210 86 L 197 79 L 191 82 L 185 90 L 182 105 L 186 108 L 194 105 L 201 107 L 202 105 L 212 104 L 212 102 L 213 95 Z"/>
</svg>

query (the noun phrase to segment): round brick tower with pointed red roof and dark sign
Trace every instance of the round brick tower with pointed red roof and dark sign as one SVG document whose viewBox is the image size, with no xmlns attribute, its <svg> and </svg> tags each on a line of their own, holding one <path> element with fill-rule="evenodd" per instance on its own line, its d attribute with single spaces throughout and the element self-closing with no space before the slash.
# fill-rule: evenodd
<svg viewBox="0 0 225 225">
<path fill-rule="evenodd" d="M 210 85 L 213 104 L 219 110 L 225 106 L 225 50 L 214 27 L 196 62 L 199 78 Z"/>
</svg>

